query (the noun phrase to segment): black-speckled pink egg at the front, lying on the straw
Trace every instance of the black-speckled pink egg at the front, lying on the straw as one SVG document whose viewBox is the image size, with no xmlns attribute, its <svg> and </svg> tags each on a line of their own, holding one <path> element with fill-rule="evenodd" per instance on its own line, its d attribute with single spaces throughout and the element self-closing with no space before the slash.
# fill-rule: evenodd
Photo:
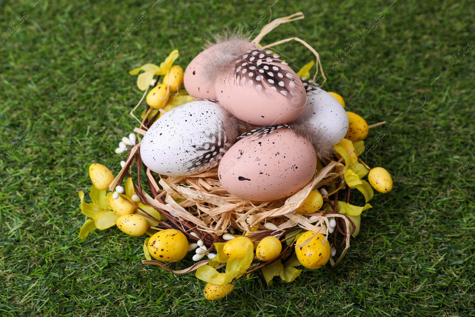
<svg viewBox="0 0 475 317">
<path fill-rule="evenodd" d="M 219 181 L 231 194 L 252 201 L 290 196 L 312 180 L 316 169 L 314 146 L 288 128 L 266 136 L 248 135 L 224 154 Z"/>
</svg>

